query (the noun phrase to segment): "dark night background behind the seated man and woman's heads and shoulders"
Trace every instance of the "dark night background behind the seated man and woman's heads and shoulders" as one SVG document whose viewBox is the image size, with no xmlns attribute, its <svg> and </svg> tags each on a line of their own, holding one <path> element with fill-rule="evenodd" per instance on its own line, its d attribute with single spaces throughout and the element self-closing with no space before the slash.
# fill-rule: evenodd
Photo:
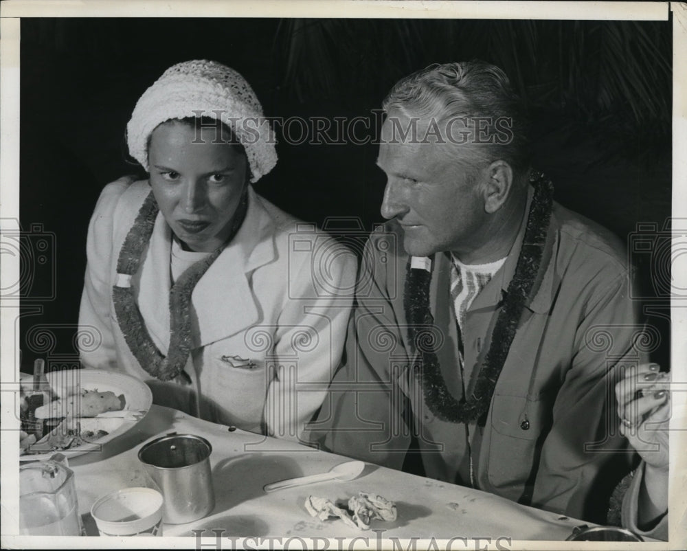
<svg viewBox="0 0 687 551">
<path fill-rule="evenodd" d="M 481 58 L 499 65 L 530 108 L 535 166 L 554 181 L 556 200 L 628 241 L 653 308 L 647 319 L 661 335 L 653 359 L 667 365 L 670 272 L 657 251 L 671 215 L 671 25 L 22 19 L 25 256 L 38 258 L 37 247 L 49 244 L 47 262 L 22 265 L 23 370 L 36 357 L 46 357 L 48 369 L 76 361 L 93 206 L 109 181 L 142 174 L 127 159 L 126 122 L 167 67 L 198 58 L 234 67 L 264 113 L 279 117 L 370 116 L 394 82 L 430 63 Z M 319 225 L 328 216 L 356 217 L 368 231 L 381 221 L 385 179 L 374 164 L 376 146 L 289 146 L 282 139 L 277 151 L 278 165 L 256 185 L 267 199 Z M 635 250 L 638 223 L 649 249 Z"/>
</svg>

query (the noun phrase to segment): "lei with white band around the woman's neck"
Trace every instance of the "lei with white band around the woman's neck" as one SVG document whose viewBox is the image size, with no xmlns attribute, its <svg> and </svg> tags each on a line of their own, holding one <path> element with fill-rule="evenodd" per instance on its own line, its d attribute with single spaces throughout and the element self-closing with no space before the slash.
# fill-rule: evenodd
<svg viewBox="0 0 687 551">
<path fill-rule="evenodd" d="M 130 284 L 140 265 L 141 256 L 153 234 L 155 218 L 159 211 L 153 192 L 150 192 L 141 206 L 136 220 L 126 235 L 117 259 L 117 283 L 112 288 L 112 300 L 117 323 L 124 340 L 141 367 L 160 381 L 170 381 L 183 372 L 192 348 L 190 303 L 196 283 L 203 277 L 212 262 L 234 238 L 247 210 L 247 189 L 236 210 L 236 217 L 229 238 L 224 245 L 199 260 L 184 271 L 170 289 L 170 347 L 163 355 L 150 338 L 148 329 L 136 304 L 134 289 Z M 122 277 L 124 276 L 124 277 Z"/>
</svg>

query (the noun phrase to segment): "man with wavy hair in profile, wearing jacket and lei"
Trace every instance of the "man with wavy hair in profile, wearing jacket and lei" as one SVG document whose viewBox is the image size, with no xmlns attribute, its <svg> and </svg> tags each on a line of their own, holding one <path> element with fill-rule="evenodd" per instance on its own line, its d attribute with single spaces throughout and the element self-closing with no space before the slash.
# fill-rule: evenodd
<svg viewBox="0 0 687 551">
<path fill-rule="evenodd" d="M 429 67 L 392 89 L 387 176 L 326 449 L 604 521 L 622 449 L 620 366 L 639 361 L 624 247 L 552 201 L 505 74 Z"/>
</svg>

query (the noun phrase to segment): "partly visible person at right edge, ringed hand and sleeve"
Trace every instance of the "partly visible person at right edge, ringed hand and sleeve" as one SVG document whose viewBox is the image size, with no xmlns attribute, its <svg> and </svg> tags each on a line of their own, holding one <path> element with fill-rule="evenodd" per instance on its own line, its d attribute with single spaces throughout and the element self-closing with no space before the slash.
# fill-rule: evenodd
<svg viewBox="0 0 687 551">
<path fill-rule="evenodd" d="M 670 374 L 657 363 L 630 368 L 616 384 L 620 432 L 642 458 L 622 500 L 622 525 L 668 539 Z"/>
</svg>

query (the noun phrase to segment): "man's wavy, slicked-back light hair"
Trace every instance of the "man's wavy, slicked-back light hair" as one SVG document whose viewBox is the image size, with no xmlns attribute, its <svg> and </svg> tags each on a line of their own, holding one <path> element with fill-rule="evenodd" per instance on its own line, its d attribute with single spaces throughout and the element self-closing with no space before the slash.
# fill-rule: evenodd
<svg viewBox="0 0 687 551">
<path fill-rule="evenodd" d="M 529 121 L 519 96 L 499 67 L 480 60 L 430 65 L 398 81 L 382 106 L 387 115 L 398 110 L 422 120 L 433 117 L 437 124 L 446 124 L 454 117 L 488 117 L 503 123 L 505 117 L 510 121 L 510 142 L 470 144 L 468 148 L 455 144 L 456 160 L 474 170 L 482 163 L 503 159 L 513 168 L 516 181 L 526 181 L 531 157 Z M 497 128 L 489 124 L 486 131 L 492 137 Z"/>
</svg>

